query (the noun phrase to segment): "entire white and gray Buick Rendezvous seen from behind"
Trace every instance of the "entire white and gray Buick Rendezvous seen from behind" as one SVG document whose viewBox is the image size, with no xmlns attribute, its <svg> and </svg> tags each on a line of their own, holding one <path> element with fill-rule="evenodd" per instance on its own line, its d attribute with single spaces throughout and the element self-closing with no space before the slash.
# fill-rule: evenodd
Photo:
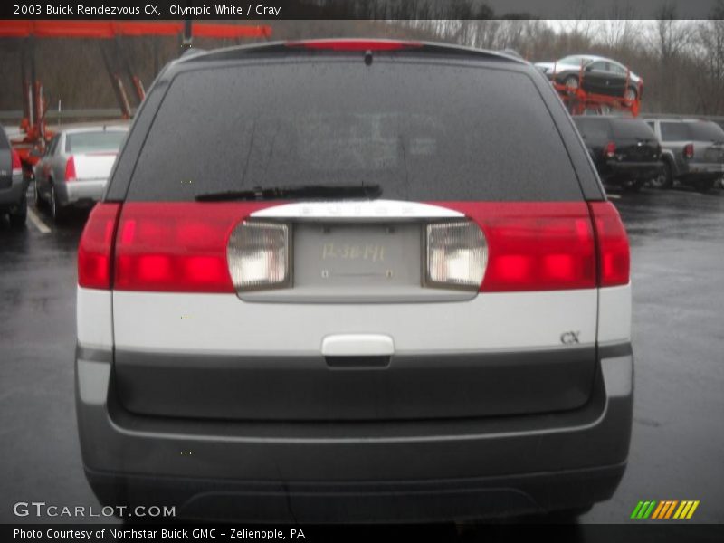
<svg viewBox="0 0 724 543">
<path fill-rule="evenodd" d="M 583 510 L 624 472 L 629 246 L 526 62 L 387 41 L 186 55 L 78 259 L 102 503 L 471 519 Z"/>
</svg>

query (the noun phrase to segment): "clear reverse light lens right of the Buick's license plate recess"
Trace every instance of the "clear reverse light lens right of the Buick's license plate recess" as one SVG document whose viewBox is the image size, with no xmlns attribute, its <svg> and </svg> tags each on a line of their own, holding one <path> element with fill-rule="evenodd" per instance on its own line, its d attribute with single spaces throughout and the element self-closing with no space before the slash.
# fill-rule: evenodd
<svg viewBox="0 0 724 543">
<path fill-rule="evenodd" d="M 488 259 L 485 236 L 471 221 L 428 224 L 426 284 L 477 291 Z"/>
</svg>

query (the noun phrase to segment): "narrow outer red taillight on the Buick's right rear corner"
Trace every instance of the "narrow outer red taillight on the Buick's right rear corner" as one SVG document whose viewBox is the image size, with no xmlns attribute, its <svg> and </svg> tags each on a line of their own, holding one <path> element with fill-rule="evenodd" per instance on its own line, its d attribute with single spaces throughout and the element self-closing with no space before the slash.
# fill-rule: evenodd
<svg viewBox="0 0 724 543">
<path fill-rule="evenodd" d="M 598 284 L 625 285 L 629 281 L 631 255 L 624 223 L 610 202 L 589 204 L 598 243 Z"/>
</svg>

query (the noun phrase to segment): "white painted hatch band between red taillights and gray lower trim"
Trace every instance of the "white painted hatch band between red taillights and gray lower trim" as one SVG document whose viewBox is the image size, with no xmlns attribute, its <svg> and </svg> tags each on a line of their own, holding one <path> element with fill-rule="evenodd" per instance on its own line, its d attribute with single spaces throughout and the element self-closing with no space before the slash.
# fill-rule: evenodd
<svg viewBox="0 0 724 543">
<path fill-rule="evenodd" d="M 233 294 L 114 291 L 115 347 L 137 351 L 319 355 L 325 337 L 381 334 L 395 353 L 560 348 L 595 342 L 597 291 L 481 293 L 470 301 L 276 304 Z M 351 353 L 348 353 L 351 354 Z"/>
</svg>

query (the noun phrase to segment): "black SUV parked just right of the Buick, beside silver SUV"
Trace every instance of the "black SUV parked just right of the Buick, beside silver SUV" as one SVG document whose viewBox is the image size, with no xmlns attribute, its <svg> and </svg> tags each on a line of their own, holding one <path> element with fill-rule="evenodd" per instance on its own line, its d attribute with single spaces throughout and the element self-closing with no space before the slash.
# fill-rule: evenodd
<svg viewBox="0 0 724 543">
<path fill-rule="evenodd" d="M 662 148 L 643 120 L 603 116 L 573 120 L 606 183 L 638 190 L 659 176 Z"/>
</svg>

